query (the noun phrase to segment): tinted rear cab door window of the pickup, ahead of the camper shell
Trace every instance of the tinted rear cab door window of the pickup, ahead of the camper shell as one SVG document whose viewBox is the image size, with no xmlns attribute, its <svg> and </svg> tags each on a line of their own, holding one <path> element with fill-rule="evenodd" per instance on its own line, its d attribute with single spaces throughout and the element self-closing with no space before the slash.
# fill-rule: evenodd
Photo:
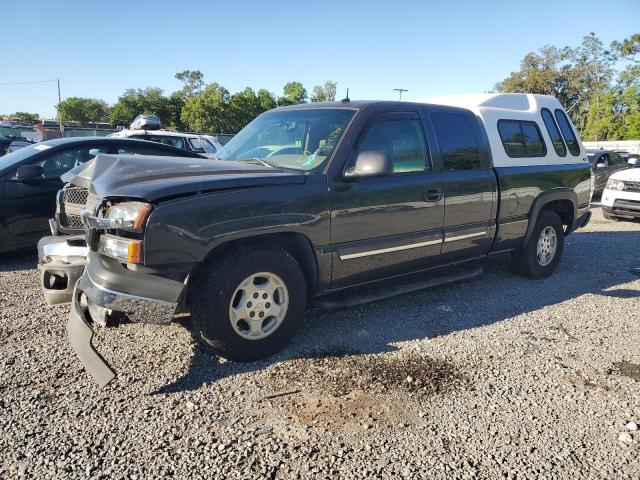
<svg viewBox="0 0 640 480">
<path fill-rule="evenodd" d="M 480 142 L 467 116 L 435 112 L 431 114 L 431 121 L 438 137 L 442 164 L 446 170 L 482 169 Z"/>
</svg>

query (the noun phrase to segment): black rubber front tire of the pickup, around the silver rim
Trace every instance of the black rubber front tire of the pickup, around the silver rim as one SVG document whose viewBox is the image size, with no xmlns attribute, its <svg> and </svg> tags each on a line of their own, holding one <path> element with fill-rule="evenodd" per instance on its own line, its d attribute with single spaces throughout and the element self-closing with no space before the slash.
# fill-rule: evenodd
<svg viewBox="0 0 640 480">
<path fill-rule="evenodd" d="M 241 362 L 268 357 L 284 347 L 301 326 L 307 285 L 300 265 L 286 250 L 274 246 L 240 247 L 216 258 L 204 270 L 194 278 L 197 284 L 190 287 L 191 317 L 198 338 L 217 354 Z M 275 274 L 283 281 L 288 308 L 272 333 L 252 340 L 232 327 L 229 309 L 231 297 L 243 280 L 260 272 Z"/>
</svg>

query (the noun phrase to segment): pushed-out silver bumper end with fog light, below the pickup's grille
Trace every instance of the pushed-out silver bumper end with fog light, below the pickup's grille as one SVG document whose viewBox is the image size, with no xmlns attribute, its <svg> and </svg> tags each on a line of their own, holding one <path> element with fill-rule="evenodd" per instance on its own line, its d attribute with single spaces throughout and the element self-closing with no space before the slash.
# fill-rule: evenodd
<svg viewBox="0 0 640 480">
<path fill-rule="evenodd" d="M 88 252 L 82 235 L 52 235 L 38 242 L 40 286 L 49 305 L 71 302 Z"/>
</svg>

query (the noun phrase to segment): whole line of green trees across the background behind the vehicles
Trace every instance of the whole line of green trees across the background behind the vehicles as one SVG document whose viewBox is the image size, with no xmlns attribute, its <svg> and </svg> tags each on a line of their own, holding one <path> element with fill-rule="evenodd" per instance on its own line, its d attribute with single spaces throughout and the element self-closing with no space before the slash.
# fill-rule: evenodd
<svg viewBox="0 0 640 480">
<path fill-rule="evenodd" d="M 205 83 L 199 70 L 178 72 L 182 88 L 170 95 L 148 87 L 128 89 L 114 105 L 99 99 L 70 97 L 57 105 L 63 122 L 109 122 L 128 126 L 139 114 L 158 115 L 165 128 L 193 132 L 236 133 L 260 113 L 280 105 L 335 100 L 333 81 L 313 87 L 289 82 L 276 97 L 252 88 L 231 94 L 219 83 Z M 494 86 L 497 92 L 553 95 L 567 109 L 583 140 L 640 139 L 640 34 L 605 48 L 591 33 L 578 47 L 545 46 L 527 53 L 520 69 Z M 35 121 L 37 115 L 11 116 Z"/>
</svg>

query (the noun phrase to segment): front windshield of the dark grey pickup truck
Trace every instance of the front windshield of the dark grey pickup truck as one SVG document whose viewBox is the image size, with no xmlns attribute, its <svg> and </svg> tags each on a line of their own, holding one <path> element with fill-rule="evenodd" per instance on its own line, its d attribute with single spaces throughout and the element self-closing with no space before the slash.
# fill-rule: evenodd
<svg viewBox="0 0 640 480">
<path fill-rule="evenodd" d="M 344 108 L 267 112 L 243 128 L 216 157 L 314 170 L 329 158 L 354 114 L 355 110 Z"/>
</svg>

